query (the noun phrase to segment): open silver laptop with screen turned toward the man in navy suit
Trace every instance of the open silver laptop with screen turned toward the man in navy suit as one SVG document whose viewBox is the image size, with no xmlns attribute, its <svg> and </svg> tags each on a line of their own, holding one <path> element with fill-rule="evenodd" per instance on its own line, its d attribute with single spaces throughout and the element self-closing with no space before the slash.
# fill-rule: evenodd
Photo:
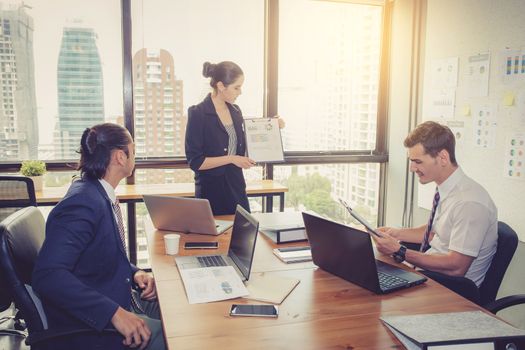
<svg viewBox="0 0 525 350">
<path fill-rule="evenodd" d="M 247 281 L 250 278 L 258 230 L 259 222 L 237 205 L 227 255 L 180 256 L 175 258 L 175 263 L 180 270 L 230 265 L 243 281 Z"/>
</svg>

